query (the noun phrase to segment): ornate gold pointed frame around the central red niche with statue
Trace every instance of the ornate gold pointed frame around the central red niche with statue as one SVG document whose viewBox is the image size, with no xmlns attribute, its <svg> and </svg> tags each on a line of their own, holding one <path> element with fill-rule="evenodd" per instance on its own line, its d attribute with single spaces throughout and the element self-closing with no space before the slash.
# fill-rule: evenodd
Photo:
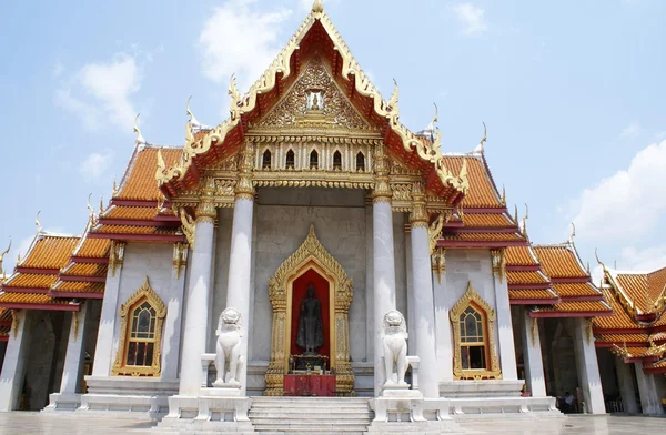
<svg viewBox="0 0 666 435">
<path fill-rule="evenodd" d="M 282 263 L 269 281 L 269 297 L 273 307 L 271 362 L 265 374 L 268 396 L 284 394 L 284 375 L 289 373 L 293 283 L 313 269 L 329 281 L 331 310 L 331 368 L 335 368 L 335 390 L 353 393 L 354 374 L 350 362 L 349 311 L 353 299 L 352 279 L 321 244 L 314 225 L 303 244 Z"/>
</svg>

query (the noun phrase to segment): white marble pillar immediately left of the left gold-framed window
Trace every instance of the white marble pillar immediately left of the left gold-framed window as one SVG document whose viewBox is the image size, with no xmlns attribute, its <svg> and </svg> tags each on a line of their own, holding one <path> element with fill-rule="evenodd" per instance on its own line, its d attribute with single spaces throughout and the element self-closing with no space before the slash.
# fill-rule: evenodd
<svg viewBox="0 0 666 435">
<path fill-rule="evenodd" d="M 113 247 L 112 247 L 113 249 Z M 124 250 L 124 244 L 123 244 Z M 107 272 L 107 284 L 104 286 L 104 299 L 102 300 L 102 312 L 100 314 L 100 326 L 98 328 L 97 345 L 94 348 L 94 361 L 92 364 L 92 376 L 109 376 L 111 365 L 115 355 L 113 354 L 113 330 L 115 321 L 120 317 L 120 281 L 122 266 L 109 266 Z"/>
</svg>

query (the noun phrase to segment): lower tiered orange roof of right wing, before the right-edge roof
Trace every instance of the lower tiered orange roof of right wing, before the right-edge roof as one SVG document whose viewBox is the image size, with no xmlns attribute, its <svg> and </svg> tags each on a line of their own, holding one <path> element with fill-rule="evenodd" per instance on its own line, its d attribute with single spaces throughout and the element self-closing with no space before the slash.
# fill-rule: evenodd
<svg viewBox="0 0 666 435">
<path fill-rule="evenodd" d="M 566 243 L 533 245 L 543 272 L 548 276 L 559 302 L 536 306 L 532 317 L 602 317 L 613 315 L 604 294 L 592 283 L 589 271 L 569 240 Z"/>
</svg>

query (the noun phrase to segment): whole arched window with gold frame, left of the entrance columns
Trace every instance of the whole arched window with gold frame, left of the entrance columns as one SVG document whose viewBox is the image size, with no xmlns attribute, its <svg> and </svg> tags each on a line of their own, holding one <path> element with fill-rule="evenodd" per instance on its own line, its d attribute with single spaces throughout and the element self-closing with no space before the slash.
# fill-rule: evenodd
<svg viewBox="0 0 666 435">
<path fill-rule="evenodd" d="M 167 307 L 151 289 L 143 285 L 120 308 L 120 344 L 111 374 L 160 376 L 162 323 Z"/>
</svg>

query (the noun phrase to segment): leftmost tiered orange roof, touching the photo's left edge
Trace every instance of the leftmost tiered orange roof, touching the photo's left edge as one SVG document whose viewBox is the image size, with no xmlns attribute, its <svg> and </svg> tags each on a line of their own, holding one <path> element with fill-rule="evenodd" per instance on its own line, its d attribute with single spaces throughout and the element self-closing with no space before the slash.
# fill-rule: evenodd
<svg viewBox="0 0 666 435">
<path fill-rule="evenodd" d="M 68 265 L 81 237 L 40 230 L 14 273 L 0 286 L 0 307 L 78 311 L 79 304 L 50 295 L 60 270 Z"/>
</svg>

